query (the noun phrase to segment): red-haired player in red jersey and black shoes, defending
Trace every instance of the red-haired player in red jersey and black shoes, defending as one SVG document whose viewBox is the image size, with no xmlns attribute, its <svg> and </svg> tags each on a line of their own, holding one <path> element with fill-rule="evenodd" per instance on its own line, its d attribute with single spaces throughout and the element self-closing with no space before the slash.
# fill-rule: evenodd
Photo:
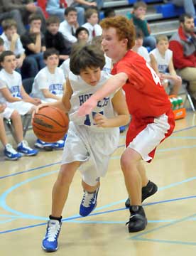
<svg viewBox="0 0 196 256">
<path fill-rule="evenodd" d="M 133 23 L 123 16 L 115 16 L 105 18 L 100 25 L 104 52 L 114 62 L 111 71 L 114 76 L 80 107 L 78 114 L 89 114 L 97 101 L 123 87 L 131 123 L 126 134 L 126 149 L 121 156 L 121 169 L 131 198 L 126 206 L 131 213 L 127 224 L 132 233 L 146 228 L 141 202 L 157 191 L 156 184 L 148 181 L 141 160 L 153 159 L 156 146 L 173 132 L 175 120 L 158 75 L 146 60 L 130 50 L 135 41 Z"/>
</svg>

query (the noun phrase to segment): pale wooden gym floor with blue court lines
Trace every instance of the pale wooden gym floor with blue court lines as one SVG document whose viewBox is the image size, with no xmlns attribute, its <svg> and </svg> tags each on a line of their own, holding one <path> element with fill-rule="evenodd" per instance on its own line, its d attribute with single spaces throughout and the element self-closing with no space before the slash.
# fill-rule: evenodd
<svg viewBox="0 0 196 256">
<path fill-rule="evenodd" d="M 176 122 L 173 136 L 158 147 L 153 162 L 146 164 L 148 177 L 159 190 L 143 203 L 148 217 L 146 230 L 132 234 L 125 226 L 129 210 L 124 207 L 126 189 L 119 166 L 125 134 L 121 134 L 119 149 L 102 178 L 97 208 L 86 218 L 78 215 L 82 186 L 80 173 L 75 175 L 55 255 L 195 255 L 195 113 L 188 112 L 185 119 Z M 31 131 L 26 139 L 33 146 Z M 40 151 L 38 156 L 4 161 L 1 153 L 0 255 L 45 255 L 40 244 L 61 155 L 62 151 Z"/>
</svg>

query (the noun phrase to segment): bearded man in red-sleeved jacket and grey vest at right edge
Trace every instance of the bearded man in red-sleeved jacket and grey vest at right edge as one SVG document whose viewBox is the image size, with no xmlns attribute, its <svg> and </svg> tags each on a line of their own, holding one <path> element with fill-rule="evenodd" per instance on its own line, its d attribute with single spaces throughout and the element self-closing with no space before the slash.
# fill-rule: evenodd
<svg viewBox="0 0 196 256">
<path fill-rule="evenodd" d="M 196 36 L 194 19 L 189 14 L 180 16 L 178 32 L 170 38 L 169 48 L 173 51 L 173 64 L 178 75 L 189 82 L 188 89 L 196 107 Z"/>
</svg>

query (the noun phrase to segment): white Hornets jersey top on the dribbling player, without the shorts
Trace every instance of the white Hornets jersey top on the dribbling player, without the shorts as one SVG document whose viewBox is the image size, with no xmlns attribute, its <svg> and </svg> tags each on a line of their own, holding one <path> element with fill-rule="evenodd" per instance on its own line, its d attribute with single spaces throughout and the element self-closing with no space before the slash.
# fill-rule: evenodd
<svg viewBox="0 0 196 256">
<path fill-rule="evenodd" d="M 72 97 L 71 97 L 71 105 L 72 109 L 70 112 L 70 120 L 75 122 L 76 124 L 85 125 L 89 128 L 97 129 L 100 131 L 100 127 L 97 128 L 94 125 L 94 115 L 97 113 L 103 114 L 105 117 L 111 118 L 115 116 L 114 109 L 112 106 L 111 99 L 114 95 L 110 95 L 109 97 L 104 97 L 103 100 L 99 100 L 97 102 L 97 107 L 94 108 L 91 114 L 87 114 L 85 117 L 81 117 L 80 119 L 77 117 L 77 110 L 79 107 L 89 99 L 91 95 L 94 94 L 97 90 L 99 90 L 102 85 L 104 85 L 104 82 L 108 78 L 110 78 L 111 75 L 106 73 L 105 71 L 101 72 L 101 78 L 97 85 L 92 86 L 88 85 L 87 82 L 82 80 L 79 75 L 74 75 L 72 72 L 69 73 L 69 80 L 70 85 L 72 87 Z M 104 128 L 106 129 L 106 128 Z"/>
</svg>

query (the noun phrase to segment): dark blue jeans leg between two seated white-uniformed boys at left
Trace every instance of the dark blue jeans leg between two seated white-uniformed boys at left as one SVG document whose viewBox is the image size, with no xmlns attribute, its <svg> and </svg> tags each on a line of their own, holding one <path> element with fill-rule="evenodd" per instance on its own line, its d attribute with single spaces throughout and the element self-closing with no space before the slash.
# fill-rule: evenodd
<svg viewBox="0 0 196 256">
<path fill-rule="evenodd" d="M 35 58 L 27 56 L 21 67 L 22 78 L 35 78 L 38 73 L 38 63 Z"/>
</svg>

